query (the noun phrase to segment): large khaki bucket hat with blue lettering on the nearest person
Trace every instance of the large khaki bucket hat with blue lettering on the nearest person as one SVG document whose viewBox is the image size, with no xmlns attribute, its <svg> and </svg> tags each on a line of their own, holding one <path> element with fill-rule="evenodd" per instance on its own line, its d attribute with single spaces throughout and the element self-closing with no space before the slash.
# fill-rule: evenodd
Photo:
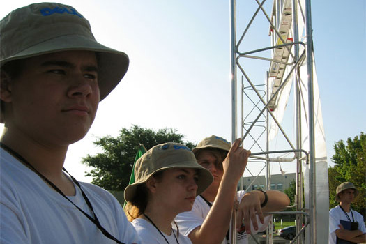
<svg viewBox="0 0 366 244">
<path fill-rule="evenodd" d="M 72 6 L 34 3 L 17 8 L 0 21 L 0 67 L 9 61 L 53 52 L 84 50 L 98 56 L 100 100 L 128 70 L 127 54 L 96 41 L 89 21 Z M 3 123 L 3 114 L 0 122 Z"/>
</svg>

